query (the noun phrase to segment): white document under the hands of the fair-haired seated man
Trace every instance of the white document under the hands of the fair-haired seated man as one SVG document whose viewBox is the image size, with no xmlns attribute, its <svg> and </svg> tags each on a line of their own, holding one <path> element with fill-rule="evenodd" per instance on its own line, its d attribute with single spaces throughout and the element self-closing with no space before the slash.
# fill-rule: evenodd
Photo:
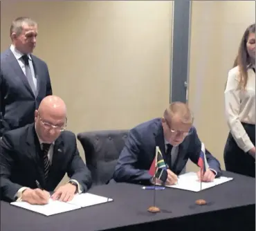
<svg viewBox="0 0 256 231">
<path fill-rule="evenodd" d="M 209 187 L 214 187 L 231 181 L 233 178 L 226 176 L 221 176 L 220 178 L 215 178 L 212 182 L 202 182 L 202 190 L 208 189 Z M 182 174 L 178 178 L 178 183 L 176 185 L 165 185 L 165 187 L 173 187 L 180 190 L 189 190 L 193 192 L 200 191 L 200 181 L 196 175 L 196 172 L 188 172 Z"/>
</svg>

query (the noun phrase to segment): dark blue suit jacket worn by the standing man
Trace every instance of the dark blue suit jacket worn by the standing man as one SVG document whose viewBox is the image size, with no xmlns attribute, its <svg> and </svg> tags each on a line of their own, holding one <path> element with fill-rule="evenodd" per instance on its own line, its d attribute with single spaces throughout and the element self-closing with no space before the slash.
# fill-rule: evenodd
<svg viewBox="0 0 256 231">
<path fill-rule="evenodd" d="M 35 109 L 47 95 L 52 95 L 48 67 L 44 61 L 30 55 L 37 78 L 34 95 L 28 79 L 10 49 L 1 53 L 0 72 L 0 137 L 4 131 L 24 127 L 34 122 Z"/>
</svg>

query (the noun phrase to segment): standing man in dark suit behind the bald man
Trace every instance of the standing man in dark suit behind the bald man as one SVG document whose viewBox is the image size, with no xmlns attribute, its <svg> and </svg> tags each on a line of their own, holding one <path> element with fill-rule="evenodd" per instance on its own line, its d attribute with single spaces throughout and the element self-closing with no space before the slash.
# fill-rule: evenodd
<svg viewBox="0 0 256 231">
<path fill-rule="evenodd" d="M 33 123 L 34 111 L 52 95 L 48 67 L 33 52 L 37 23 L 19 17 L 10 26 L 12 45 L 1 53 L 0 137 L 4 131 Z"/>
</svg>

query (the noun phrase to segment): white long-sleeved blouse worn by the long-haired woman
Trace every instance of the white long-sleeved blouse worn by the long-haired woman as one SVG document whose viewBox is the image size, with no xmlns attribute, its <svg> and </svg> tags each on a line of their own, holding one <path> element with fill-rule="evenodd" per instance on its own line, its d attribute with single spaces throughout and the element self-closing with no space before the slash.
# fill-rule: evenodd
<svg viewBox="0 0 256 231">
<path fill-rule="evenodd" d="M 255 124 L 255 72 L 248 68 L 248 82 L 245 90 L 238 89 L 238 66 L 228 72 L 225 90 L 225 111 L 228 127 L 233 138 L 244 152 L 254 147 L 241 122 Z"/>
</svg>

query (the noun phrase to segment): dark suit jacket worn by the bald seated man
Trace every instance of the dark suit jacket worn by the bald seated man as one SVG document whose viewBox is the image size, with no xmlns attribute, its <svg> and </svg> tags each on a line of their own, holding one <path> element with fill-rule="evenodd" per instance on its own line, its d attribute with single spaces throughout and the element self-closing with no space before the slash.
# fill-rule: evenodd
<svg viewBox="0 0 256 231">
<path fill-rule="evenodd" d="M 34 124 L 3 134 L 0 153 L 0 185 L 4 200 L 15 200 L 21 187 L 37 188 L 35 181 L 48 192 L 55 190 L 65 174 L 82 186 L 91 187 L 91 173 L 77 150 L 75 134 L 63 131 L 55 140 L 53 160 L 44 181 L 44 160 Z"/>
</svg>

